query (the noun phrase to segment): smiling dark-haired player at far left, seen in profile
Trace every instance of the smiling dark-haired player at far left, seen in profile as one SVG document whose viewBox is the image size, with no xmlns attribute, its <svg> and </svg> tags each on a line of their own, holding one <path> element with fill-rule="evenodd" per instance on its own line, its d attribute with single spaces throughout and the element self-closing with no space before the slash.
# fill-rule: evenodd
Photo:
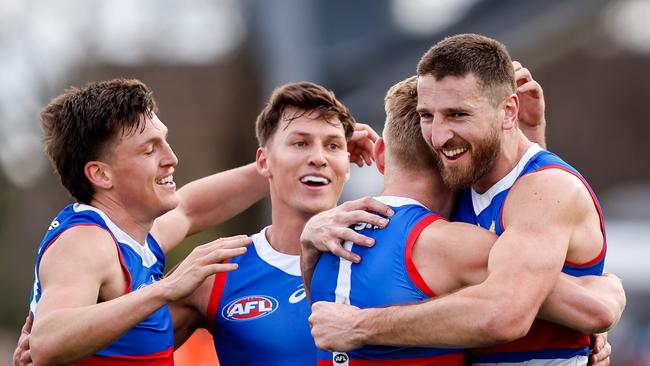
<svg viewBox="0 0 650 366">
<path fill-rule="evenodd" d="M 200 246 L 162 278 L 164 253 L 188 234 L 240 212 L 266 188 L 251 165 L 193 182 L 177 194 L 178 160 L 167 127 L 151 91 L 137 80 L 72 88 L 50 102 L 41 119 L 47 152 L 77 202 L 57 215 L 41 242 L 32 334 L 21 337 L 22 356 L 14 362 L 172 365 L 166 304 L 207 276 L 236 269 L 221 262 L 244 253 L 250 238 Z M 230 202 L 240 189 L 247 193 Z"/>
</svg>

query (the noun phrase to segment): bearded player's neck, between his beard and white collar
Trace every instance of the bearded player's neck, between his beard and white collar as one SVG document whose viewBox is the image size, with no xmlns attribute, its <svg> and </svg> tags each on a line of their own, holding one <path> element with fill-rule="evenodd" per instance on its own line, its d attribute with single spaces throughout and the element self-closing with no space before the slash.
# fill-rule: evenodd
<svg viewBox="0 0 650 366">
<path fill-rule="evenodd" d="M 494 167 L 473 184 L 472 188 L 478 193 L 485 193 L 517 166 L 532 144 L 518 128 L 505 131 Z"/>
</svg>

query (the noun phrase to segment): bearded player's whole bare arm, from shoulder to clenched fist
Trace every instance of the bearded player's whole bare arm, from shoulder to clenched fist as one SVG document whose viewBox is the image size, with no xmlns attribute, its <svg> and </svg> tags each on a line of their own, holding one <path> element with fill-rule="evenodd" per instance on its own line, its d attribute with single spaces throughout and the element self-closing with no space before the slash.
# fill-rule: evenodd
<svg viewBox="0 0 650 366">
<path fill-rule="evenodd" d="M 317 346 L 339 351 L 365 344 L 477 347 L 525 335 L 567 253 L 576 190 L 584 189 L 567 179 L 544 171 L 522 178 L 511 190 L 507 230 L 490 252 L 484 282 L 409 306 L 355 310 L 316 303 L 310 322 Z M 345 332 L 328 322 L 334 314 L 347 323 Z"/>
</svg>

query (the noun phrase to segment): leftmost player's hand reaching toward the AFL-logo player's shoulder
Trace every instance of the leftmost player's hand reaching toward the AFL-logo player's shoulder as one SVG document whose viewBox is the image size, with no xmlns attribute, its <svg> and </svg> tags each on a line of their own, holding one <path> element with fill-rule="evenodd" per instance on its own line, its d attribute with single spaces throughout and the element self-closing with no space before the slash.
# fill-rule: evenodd
<svg viewBox="0 0 650 366">
<path fill-rule="evenodd" d="M 159 283 L 167 289 L 169 301 L 176 301 L 192 293 L 210 275 L 237 269 L 236 263 L 223 263 L 226 259 L 246 253 L 252 242 L 246 235 L 221 238 L 200 245 L 190 253 L 173 272 Z"/>
</svg>

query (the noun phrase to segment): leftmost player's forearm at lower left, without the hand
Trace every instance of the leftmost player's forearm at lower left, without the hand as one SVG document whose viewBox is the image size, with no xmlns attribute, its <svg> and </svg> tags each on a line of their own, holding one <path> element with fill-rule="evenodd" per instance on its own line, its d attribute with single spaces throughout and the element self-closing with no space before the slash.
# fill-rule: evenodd
<svg viewBox="0 0 650 366">
<path fill-rule="evenodd" d="M 166 303 L 153 284 L 116 299 L 38 314 L 30 338 L 36 364 L 69 364 L 113 343 Z"/>
</svg>

